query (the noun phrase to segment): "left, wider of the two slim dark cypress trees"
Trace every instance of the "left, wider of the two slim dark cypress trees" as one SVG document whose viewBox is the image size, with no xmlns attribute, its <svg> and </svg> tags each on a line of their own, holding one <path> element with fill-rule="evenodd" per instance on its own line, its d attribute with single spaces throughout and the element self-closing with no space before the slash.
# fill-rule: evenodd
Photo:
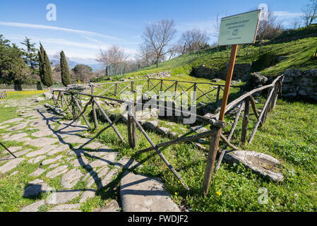
<svg viewBox="0 0 317 226">
<path fill-rule="evenodd" d="M 43 85 L 51 87 L 53 85 L 53 74 L 51 64 L 49 63 L 49 57 L 47 57 L 47 53 L 45 52 L 42 44 L 40 43 L 40 78 Z"/>
</svg>

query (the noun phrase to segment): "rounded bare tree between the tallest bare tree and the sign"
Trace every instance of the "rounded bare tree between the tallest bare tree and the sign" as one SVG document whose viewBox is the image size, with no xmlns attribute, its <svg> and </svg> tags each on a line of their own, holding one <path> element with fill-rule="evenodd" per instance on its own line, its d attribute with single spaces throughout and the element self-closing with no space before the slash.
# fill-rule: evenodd
<svg viewBox="0 0 317 226">
<path fill-rule="evenodd" d="M 181 35 L 179 44 L 183 53 L 200 50 L 208 44 L 209 37 L 205 31 L 198 29 L 187 30 Z"/>
</svg>

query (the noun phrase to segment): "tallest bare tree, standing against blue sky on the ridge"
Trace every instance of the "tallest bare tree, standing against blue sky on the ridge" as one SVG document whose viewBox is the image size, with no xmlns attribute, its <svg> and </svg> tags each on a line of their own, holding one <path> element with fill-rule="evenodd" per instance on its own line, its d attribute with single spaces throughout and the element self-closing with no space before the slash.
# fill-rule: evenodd
<svg viewBox="0 0 317 226">
<path fill-rule="evenodd" d="M 157 67 L 160 59 L 164 59 L 165 54 L 170 52 L 169 44 L 174 39 L 176 32 L 174 20 L 160 20 L 145 26 L 144 44 L 155 53 Z"/>
</svg>

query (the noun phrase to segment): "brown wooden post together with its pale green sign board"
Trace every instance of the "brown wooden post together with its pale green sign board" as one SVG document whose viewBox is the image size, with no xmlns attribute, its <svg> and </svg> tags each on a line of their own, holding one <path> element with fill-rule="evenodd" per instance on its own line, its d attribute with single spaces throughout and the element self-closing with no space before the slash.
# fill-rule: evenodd
<svg viewBox="0 0 317 226">
<path fill-rule="evenodd" d="M 230 61 L 228 65 L 227 78 L 225 90 L 222 97 L 220 117 L 219 120 L 225 119 L 225 111 L 229 97 L 230 84 L 234 72 L 234 64 L 237 57 L 238 44 L 251 44 L 256 41 L 256 32 L 258 30 L 258 22 L 261 10 L 242 13 L 235 16 L 222 18 L 220 23 L 220 32 L 218 45 L 232 45 Z M 213 169 L 215 166 L 215 159 L 217 155 L 218 145 L 220 141 L 220 134 L 222 129 L 216 136 L 213 136 L 210 141 L 207 165 L 205 168 L 205 177 L 203 180 L 203 194 L 207 196 L 211 178 L 213 177 Z"/>
</svg>

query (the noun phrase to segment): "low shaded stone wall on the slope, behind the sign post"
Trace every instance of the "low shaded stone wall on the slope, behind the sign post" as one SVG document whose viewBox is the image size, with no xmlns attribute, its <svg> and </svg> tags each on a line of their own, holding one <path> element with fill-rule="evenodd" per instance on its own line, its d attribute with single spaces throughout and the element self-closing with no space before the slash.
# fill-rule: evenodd
<svg viewBox="0 0 317 226">
<path fill-rule="evenodd" d="M 227 77 L 228 64 L 225 65 L 225 68 L 218 71 L 216 69 L 210 69 L 204 65 L 199 66 L 198 68 L 193 68 L 191 71 L 191 76 L 198 78 L 220 78 L 226 80 Z M 239 80 L 244 78 L 244 76 L 249 75 L 251 70 L 251 64 L 235 64 L 234 74 L 232 80 Z"/>
</svg>

